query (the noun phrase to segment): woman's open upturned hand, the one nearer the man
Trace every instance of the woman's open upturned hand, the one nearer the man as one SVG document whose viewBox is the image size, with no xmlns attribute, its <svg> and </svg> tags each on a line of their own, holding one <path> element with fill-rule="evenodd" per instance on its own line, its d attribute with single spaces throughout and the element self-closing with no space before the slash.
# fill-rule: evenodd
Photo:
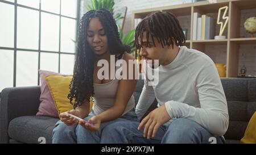
<svg viewBox="0 0 256 155">
<path fill-rule="evenodd" d="M 79 124 L 82 125 L 82 127 L 84 127 L 85 129 L 89 130 L 90 132 L 98 131 L 101 125 L 101 120 L 97 116 L 92 116 L 92 118 L 90 118 L 88 122 L 93 125 L 90 125 L 83 120 L 80 120 Z"/>
</svg>

